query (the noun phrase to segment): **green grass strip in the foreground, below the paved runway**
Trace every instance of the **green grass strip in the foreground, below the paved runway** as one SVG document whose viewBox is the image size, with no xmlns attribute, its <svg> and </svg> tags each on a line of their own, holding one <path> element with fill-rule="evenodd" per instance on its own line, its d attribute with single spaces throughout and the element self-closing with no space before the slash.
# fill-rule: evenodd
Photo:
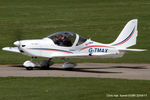
<svg viewBox="0 0 150 100">
<path fill-rule="evenodd" d="M 149 84 L 125 79 L 8 77 L 0 78 L 0 100 L 149 100 Z"/>
</svg>

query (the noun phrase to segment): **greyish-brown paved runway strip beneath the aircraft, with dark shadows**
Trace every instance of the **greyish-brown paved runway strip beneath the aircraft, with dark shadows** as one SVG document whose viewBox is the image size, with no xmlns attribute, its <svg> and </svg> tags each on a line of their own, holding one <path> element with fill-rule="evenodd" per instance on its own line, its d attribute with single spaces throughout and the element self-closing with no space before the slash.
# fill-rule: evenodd
<svg viewBox="0 0 150 100">
<path fill-rule="evenodd" d="M 27 71 L 20 65 L 0 65 L 0 77 L 97 77 L 150 80 L 150 64 L 84 63 L 75 69 L 64 70 L 54 64 L 49 70 Z"/>
</svg>

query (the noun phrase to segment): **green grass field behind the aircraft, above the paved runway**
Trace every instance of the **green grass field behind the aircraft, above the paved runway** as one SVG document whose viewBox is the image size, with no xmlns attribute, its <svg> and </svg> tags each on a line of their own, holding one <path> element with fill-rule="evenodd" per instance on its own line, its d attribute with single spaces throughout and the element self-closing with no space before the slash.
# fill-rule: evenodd
<svg viewBox="0 0 150 100">
<path fill-rule="evenodd" d="M 18 33 L 21 39 L 38 39 L 58 31 L 110 43 L 129 20 L 137 18 L 139 36 L 133 48 L 149 50 L 149 9 L 149 0 L 0 0 L 0 48 L 13 46 Z M 75 62 L 150 63 L 149 57 L 149 51 L 131 52 L 121 59 Z M 27 59 L 0 50 L 0 64 L 23 63 Z"/>
</svg>

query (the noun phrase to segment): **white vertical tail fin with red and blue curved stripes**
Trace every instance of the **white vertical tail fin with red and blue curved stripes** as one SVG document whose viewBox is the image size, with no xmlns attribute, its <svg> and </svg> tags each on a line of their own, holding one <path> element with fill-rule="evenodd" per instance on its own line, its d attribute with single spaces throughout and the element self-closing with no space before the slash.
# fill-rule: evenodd
<svg viewBox="0 0 150 100">
<path fill-rule="evenodd" d="M 118 38 L 111 43 L 111 46 L 117 46 L 118 48 L 127 48 L 136 44 L 137 31 L 137 19 L 130 20 L 124 29 L 121 31 Z"/>
</svg>

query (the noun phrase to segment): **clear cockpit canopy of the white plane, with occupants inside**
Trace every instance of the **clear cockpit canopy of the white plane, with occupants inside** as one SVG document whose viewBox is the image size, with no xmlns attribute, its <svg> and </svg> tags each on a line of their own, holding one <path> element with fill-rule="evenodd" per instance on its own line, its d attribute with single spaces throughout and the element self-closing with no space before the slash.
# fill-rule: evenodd
<svg viewBox="0 0 150 100">
<path fill-rule="evenodd" d="M 71 47 L 76 38 L 77 35 L 73 32 L 56 32 L 48 36 L 53 42 L 58 46 L 65 46 L 65 47 Z M 87 39 L 79 36 L 77 46 L 84 43 Z"/>
</svg>

